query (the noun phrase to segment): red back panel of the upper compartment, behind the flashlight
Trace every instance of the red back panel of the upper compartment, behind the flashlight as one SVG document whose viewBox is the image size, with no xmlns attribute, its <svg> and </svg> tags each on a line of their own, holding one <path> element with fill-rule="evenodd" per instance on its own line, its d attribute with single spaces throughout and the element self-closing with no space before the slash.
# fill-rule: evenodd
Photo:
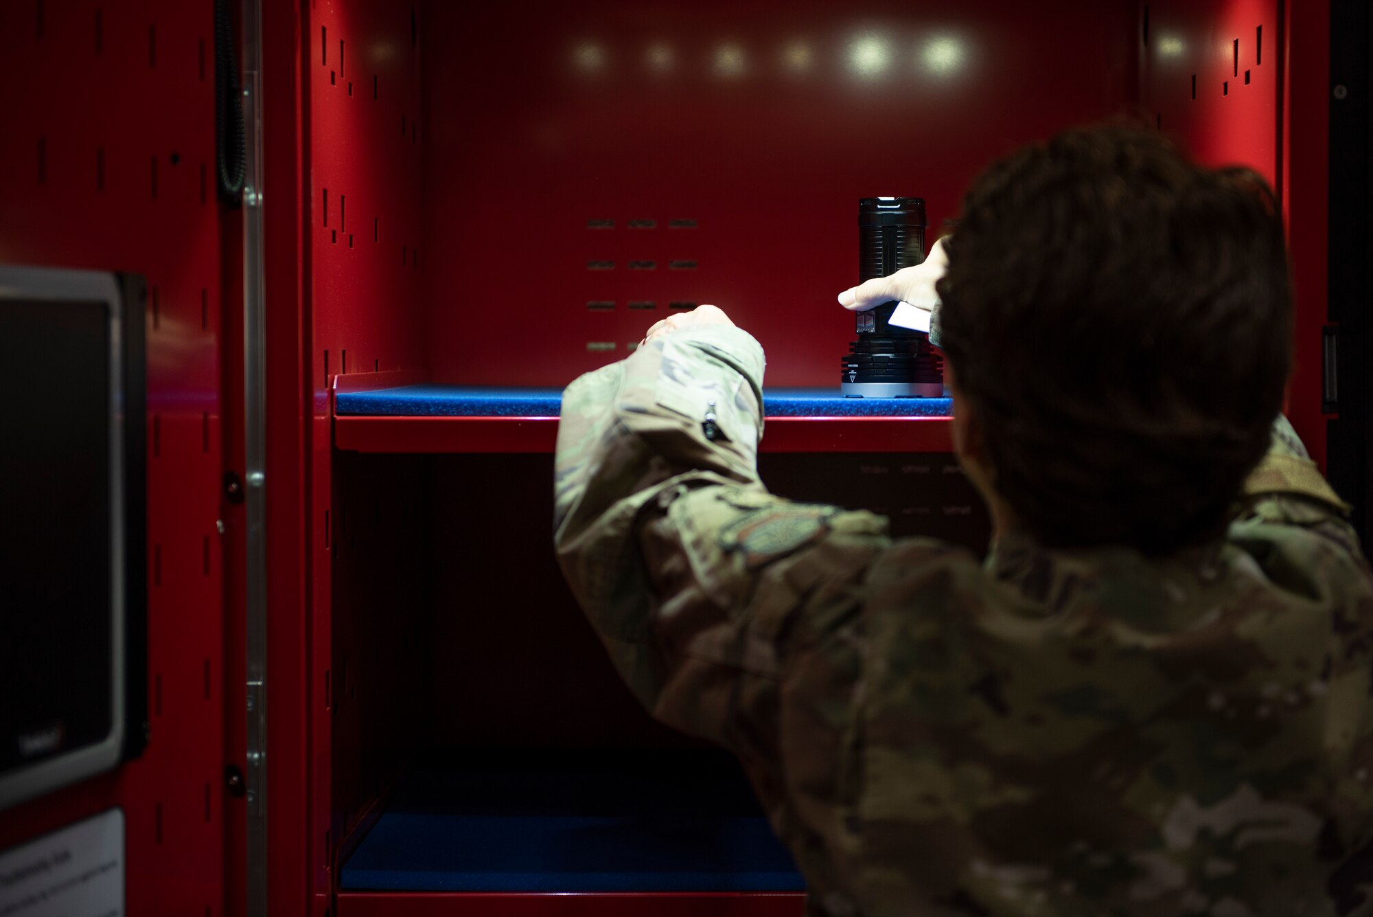
<svg viewBox="0 0 1373 917">
<path fill-rule="evenodd" d="M 932 240 L 990 158 L 1134 99 L 1131 3 L 542 7 L 426 10 L 439 382 L 566 384 L 714 302 L 769 384 L 836 384 L 858 198 L 923 195 Z"/>
</svg>

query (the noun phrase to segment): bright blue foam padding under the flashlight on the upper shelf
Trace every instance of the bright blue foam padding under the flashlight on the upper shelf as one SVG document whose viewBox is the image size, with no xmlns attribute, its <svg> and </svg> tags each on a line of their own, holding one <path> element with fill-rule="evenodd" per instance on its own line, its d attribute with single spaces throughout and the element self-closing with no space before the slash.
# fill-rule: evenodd
<svg viewBox="0 0 1373 917">
<path fill-rule="evenodd" d="M 376 391 L 341 391 L 341 415 L 386 417 L 556 417 L 559 388 L 489 386 L 402 386 Z M 942 417 L 949 398 L 844 398 L 839 388 L 768 388 L 769 417 Z"/>
</svg>

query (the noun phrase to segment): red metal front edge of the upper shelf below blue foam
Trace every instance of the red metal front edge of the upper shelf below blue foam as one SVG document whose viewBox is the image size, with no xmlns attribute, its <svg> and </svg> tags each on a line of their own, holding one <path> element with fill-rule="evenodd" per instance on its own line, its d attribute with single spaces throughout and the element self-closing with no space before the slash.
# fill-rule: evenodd
<svg viewBox="0 0 1373 917">
<path fill-rule="evenodd" d="M 769 417 L 761 452 L 949 452 L 947 417 Z M 557 417 L 334 419 L 334 445 L 351 452 L 553 452 Z"/>
</svg>

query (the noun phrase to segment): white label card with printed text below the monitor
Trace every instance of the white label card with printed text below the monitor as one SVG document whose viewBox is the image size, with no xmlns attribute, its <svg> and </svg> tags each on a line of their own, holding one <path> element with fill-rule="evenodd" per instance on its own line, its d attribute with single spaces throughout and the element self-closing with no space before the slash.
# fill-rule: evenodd
<svg viewBox="0 0 1373 917">
<path fill-rule="evenodd" d="M 0 852 L 0 917 L 124 917 L 124 810 Z"/>
</svg>

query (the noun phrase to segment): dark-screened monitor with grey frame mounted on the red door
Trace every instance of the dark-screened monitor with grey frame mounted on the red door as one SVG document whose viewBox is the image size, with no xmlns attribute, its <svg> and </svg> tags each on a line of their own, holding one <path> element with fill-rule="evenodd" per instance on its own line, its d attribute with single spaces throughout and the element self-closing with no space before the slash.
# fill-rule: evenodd
<svg viewBox="0 0 1373 917">
<path fill-rule="evenodd" d="M 146 744 L 143 302 L 0 265 L 0 810 Z"/>
</svg>

